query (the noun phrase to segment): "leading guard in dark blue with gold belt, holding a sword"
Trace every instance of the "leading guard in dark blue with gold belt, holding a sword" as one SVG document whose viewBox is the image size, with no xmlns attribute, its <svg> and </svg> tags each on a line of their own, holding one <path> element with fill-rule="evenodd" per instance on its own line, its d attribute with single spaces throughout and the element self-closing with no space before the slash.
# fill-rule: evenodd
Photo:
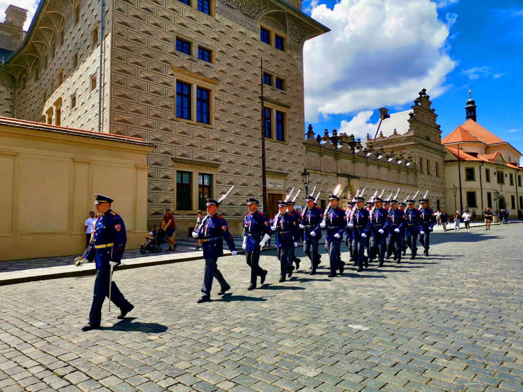
<svg viewBox="0 0 523 392">
<path fill-rule="evenodd" d="M 89 322 L 82 330 L 100 328 L 101 307 L 105 297 L 109 296 L 109 280 L 111 266 L 120 264 L 123 251 L 126 248 L 126 226 L 116 212 L 111 210 L 113 200 L 101 194 L 95 194 L 96 211 L 101 214 L 95 224 L 93 241 L 89 245 L 87 256 L 89 261 L 95 261 L 96 278 L 93 295 L 93 305 L 89 312 Z M 120 308 L 119 319 L 124 318 L 133 305 L 123 296 L 115 282 L 111 282 L 111 301 Z"/>
</svg>

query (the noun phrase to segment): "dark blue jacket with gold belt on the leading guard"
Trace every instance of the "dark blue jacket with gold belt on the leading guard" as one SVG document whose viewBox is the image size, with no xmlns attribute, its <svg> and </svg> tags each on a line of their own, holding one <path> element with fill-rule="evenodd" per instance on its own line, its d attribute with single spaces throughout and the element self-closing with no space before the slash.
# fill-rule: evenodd
<svg viewBox="0 0 523 392">
<path fill-rule="evenodd" d="M 85 258 L 89 261 L 94 260 L 97 270 L 109 268 L 109 261 L 116 261 L 120 264 L 126 242 L 126 226 L 123 224 L 122 218 L 109 209 L 95 222 L 93 242 L 89 244 L 89 251 Z M 106 244 L 113 245 L 96 248 L 96 246 Z"/>
</svg>

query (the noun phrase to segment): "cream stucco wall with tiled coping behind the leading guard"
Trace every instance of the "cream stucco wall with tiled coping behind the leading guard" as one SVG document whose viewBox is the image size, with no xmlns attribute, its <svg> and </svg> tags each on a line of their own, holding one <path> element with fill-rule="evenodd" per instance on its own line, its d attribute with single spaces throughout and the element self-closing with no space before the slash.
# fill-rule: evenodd
<svg viewBox="0 0 523 392">
<path fill-rule="evenodd" d="M 78 255 L 94 193 L 110 195 L 127 249 L 147 229 L 152 147 L 0 125 L 0 260 Z"/>
</svg>

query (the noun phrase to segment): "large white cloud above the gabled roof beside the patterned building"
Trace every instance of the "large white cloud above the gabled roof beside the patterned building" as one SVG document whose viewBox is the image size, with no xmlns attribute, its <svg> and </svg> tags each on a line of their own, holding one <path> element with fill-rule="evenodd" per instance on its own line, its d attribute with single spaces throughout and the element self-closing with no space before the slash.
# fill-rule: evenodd
<svg viewBox="0 0 523 392">
<path fill-rule="evenodd" d="M 429 0 L 340 0 L 314 4 L 311 15 L 331 32 L 304 47 L 305 117 L 403 105 L 423 87 L 447 89 L 456 66 L 447 53 L 449 25 Z"/>
</svg>

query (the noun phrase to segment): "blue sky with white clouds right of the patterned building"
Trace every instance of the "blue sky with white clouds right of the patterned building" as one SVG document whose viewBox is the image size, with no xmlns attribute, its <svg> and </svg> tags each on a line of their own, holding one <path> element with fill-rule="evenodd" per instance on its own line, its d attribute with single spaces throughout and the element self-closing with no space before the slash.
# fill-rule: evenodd
<svg viewBox="0 0 523 392">
<path fill-rule="evenodd" d="M 305 0 L 302 9 L 333 30 L 304 49 L 305 121 L 316 132 L 363 136 L 378 108 L 406 110 L 425 87 L 445 136 L 465 120 L 471 89 L 477 122 L 523 153 L 522 0 Z"/>
</svg>

